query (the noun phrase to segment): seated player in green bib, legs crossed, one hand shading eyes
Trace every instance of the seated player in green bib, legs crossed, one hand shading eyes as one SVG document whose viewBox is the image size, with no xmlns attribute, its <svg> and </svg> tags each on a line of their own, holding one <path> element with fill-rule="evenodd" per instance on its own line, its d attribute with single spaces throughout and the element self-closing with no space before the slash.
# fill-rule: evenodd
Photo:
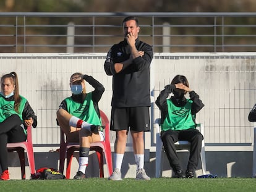
<svg viewBox="0 0 256 192">
<path fill-rule="evenodd" d="M 95 90 L 87 93 L 85 81 Z M 70 77 L 70 90 L 72 96 L 64 99 L 59 106 L 57 122 L 66 134 L 67 141 L 80 143 L 79 170 L 74 179 L 83 179 L 88 165 L 90 143 L 105 140 L 98 107 L 105 88 L 92 76 L 74 73 Z"/>
</svg>

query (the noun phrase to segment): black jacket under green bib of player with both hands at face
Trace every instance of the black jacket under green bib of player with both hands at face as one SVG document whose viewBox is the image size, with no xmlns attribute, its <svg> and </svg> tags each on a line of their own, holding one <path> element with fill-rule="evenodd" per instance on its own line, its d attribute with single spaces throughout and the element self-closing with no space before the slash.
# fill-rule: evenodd
<svg viewBox="0 0 256 192">
<path fill-rule="evenodd" d="M 166 118 L 166 115 L 168 114 L 168 105 L 166 102 L 166 99 L 169 97 L 170 93 L 173 93 L 173 90 L 175 89 L 175 85 L 166 85 L 164 87 L 164 90 L 161 91 L 160 95 L 156 99 L 156 106 L 159 107 L 161 111 L 161 123 L 164 122 L 164 119 Z M 191 108 L 191 114 L 195 115 L 198 111 L 200 111 L 205 105 L 203 102 L 199 99 L 199 96 L 195 91 L 191 91 L 189 93 L 190 99 L 193 101 L 192 108 Z M 187 99 L 185 97 L 181 99 L 177 99 L 174 96 L 171 96 L 171 101 L 174 105 L 181 107 L 185 106 Z"/>
</svg>

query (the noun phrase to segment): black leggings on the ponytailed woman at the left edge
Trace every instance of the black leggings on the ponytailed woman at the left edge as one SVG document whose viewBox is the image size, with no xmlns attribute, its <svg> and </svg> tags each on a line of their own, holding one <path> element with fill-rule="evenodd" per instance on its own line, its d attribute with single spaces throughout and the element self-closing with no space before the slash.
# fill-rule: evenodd
<svg viewBox="0 0 256 192">
<path fill-rule="evenodd" d="M 20 127 L 21 124 L 22 121 L 16 114 L 0 123 L 0 166 L 2 171 L 8 169 L 7 143 L 22 142 L 27 138 L 23 128 Z"/>
</svg>

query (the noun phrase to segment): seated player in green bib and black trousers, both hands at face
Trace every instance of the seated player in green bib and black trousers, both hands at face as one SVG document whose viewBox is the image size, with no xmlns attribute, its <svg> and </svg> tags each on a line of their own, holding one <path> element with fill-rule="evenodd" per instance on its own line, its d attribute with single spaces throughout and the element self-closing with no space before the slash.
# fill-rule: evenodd
<svg viewBox="0 0 256 192">
<path fill-rule="evenodd" d="M 169 98 L 171 93 L 173 96 Z M 189 93 L 190 99 L 185 98 L 186 93 Z M 187 78 L 184 75 L 176 75 L 171 84 L 164 87 L 155 103 L 161 111 L 161 140 L 174 177 L 193 178 L 203 140 L 203 135 L 196 129 L 195 115 L 203 108 L 203 102 L 198 94 L 189 88 Z M 185 173 L 174 146 L 179 140 L 187 140 L 191 144 Z"/>
</svg>

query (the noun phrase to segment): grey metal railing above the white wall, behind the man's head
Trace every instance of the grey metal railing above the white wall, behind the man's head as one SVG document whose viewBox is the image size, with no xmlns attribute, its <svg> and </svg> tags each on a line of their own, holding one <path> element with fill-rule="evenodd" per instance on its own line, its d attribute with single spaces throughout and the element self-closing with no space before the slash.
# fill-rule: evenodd
<svg viewBox="0 0 256 192">
<path fill-rule="evenodd" d="M 1 12 L 0 52 L 106 52 L 135 15 L 154 52 L 255 51 L 255 12 Z M 69 32 L 68 32 L 69 31 Z"/>
</svg>

